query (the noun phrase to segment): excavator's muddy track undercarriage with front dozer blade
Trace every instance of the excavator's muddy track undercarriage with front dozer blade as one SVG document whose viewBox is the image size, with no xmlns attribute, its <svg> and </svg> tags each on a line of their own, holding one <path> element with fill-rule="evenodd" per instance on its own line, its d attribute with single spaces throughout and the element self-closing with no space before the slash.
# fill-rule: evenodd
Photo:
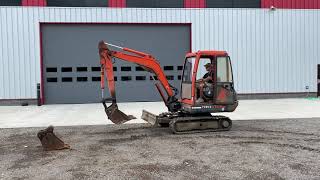
<svg viewBox="0 0 320 180">
<path fill-rule="evenodd" d="M 228 131 L 232 121 L 226 116 L 212 116 L 210 113 L 191 115 L 181 112 L 152 114 L 143 110 L 143 120 L 154 126 L 169 127 L 175 134 Z"/>
</svg>

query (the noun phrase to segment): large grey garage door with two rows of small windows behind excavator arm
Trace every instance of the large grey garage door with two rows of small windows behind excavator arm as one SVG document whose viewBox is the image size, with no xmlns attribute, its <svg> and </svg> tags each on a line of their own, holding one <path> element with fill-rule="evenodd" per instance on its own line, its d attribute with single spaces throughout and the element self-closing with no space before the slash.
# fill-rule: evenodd
<svg viewBox="0 0 320 180">
<path fill-rule="evenodd" d="M 189 25 L 42 24 L 41 33 L 45 104 L 100 101 L 100 40 L 152 54 L 178 88 L 190 50 Z M 160 101 L 149 73 L 121 60 L 114 67 L 119 102 Z"/>
</svg>

